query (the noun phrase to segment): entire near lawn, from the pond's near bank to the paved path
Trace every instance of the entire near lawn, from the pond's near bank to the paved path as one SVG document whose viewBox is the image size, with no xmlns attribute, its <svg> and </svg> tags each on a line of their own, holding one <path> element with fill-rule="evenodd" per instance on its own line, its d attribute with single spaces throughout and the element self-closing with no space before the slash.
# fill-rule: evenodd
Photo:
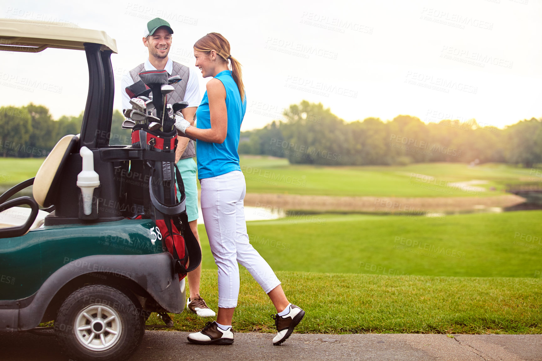
<svg viewBox="0 0 542 361">
<path fill-rule="evenodd" d="M 539 249 L 514 244 L 521 234 L 542 236 L 542 211 L 454 215 L 444 221 L 316 217 L 320 224 L 309 222 L 312 218 L 247 223 L 251 243 L 275 270 L 288 298 L 307 312 L 296 332 L 542 333 L 542 244 L 528 243 Z M 201 294 L 216 310 L 216 266 L 203 226 L 199 234 Z M 396 236 L 444 246 L 465 258 L 394 249 Z M 273 305 L 240 269 L 234 330 L 275 332 L 269 318 Z M 175 330 L 199 331 L 207 321 L 183 312 L 175 315 Z M 162 323 L 153 314 L 147 324 Z"/>
</svg>

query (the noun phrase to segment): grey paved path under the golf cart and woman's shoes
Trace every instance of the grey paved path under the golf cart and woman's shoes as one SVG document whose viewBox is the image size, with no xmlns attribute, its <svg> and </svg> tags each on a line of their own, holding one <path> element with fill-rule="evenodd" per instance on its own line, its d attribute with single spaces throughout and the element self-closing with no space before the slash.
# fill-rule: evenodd
<svg viewBox="0 0 542 361">
<path fill-rule="evenodd" d="M 44 334 L 52 334 L 43 331 Z M 193 345 L 186 332 L 146 331 L 137 360 L 542 360 L 542 334 L 293 334 L 273 346 L 272 334 L 236 333 L 231 346 Z M 63 360 L 52 336 L 0 333 L 0 359 Z"/>
</svg>

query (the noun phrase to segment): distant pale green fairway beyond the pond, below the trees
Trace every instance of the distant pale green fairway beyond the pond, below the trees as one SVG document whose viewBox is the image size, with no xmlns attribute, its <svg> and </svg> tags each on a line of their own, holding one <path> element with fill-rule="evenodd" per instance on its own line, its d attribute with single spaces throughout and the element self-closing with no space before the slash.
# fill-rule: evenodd
<svg viewBox="0 0 542 361">
<path fill-rule="evenodd" d="M 3 184 L 34 177 L 43 158 L 0 158 Z M 488 181 L 481 196 L 500 195 L 507 183 L 535 178 L 531 169 L 505 164 L 469 167 L 462 163 L 420 163 L 406 166 L 314 166 L 290 165 L 285 158 L 241 157 L 249 193 L 281 193 L 328 196 L 465 197 L 475 191 L 446 186 L 448 182 Z M 416 178 L 412 174 L 433 177 Z M 8 180 L 9 179 L 9 180 Z M 540 178 L 542 181 L 542 178 Z M 2 183 L 0 183 L 0 186 Z M 199 185 L 199 184 L 198 184 Z M 428 189 L 430 186 L 433 189 Z M 494 187 L 491 191 L 489 188 Z M 5 188 L 5 187 L 4 187 Z"/>
</svg>

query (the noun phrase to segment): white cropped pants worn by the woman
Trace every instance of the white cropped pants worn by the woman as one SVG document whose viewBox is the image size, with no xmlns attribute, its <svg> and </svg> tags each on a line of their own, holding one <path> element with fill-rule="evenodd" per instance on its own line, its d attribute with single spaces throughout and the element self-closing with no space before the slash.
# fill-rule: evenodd
<svg viewBox="0 0 542 361">
<path fill-rule="evenodd" d="M 218 307 L 237 306 L 239 266 L 248 269 L 263 291 L 280 285 L 266 260 L 248 241 L 243 199 L 247 191 L 241 171 L 200 179 L 205 230 L 218 267 Z"/>
</svg>

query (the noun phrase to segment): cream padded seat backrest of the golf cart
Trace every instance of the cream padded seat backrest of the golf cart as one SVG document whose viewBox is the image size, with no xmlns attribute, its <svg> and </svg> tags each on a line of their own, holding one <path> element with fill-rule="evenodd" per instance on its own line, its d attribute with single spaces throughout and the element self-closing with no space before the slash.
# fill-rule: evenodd
<svg viewBox="0 0 542 361">
<path fill-rule="evenodd" d="M 53 192 L 51 190 L 54 191 L 55 185 L 59 184 L 64 164 L 66 164 L 68 156 L 75 150 L 78 141 L 79 135 L 69 134 L 62 137 L 37 171 L 32 194 L 41 207 L 49 207 L 52 204 L 53 199 L 50 194 Z"/>
</svg>

